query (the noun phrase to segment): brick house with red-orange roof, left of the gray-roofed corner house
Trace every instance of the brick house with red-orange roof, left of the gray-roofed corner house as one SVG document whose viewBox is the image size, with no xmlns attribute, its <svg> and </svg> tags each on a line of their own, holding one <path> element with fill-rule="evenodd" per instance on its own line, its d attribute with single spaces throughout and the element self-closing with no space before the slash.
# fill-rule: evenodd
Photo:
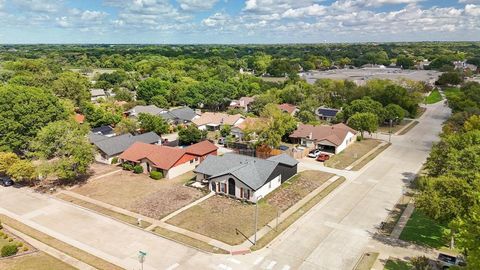
<svg viewBox="0 0 480 270">
<path fill-rule="evenodd" d="M 207 156 L 217 155 L 217 147 L 209 141 L 202 141 L 186 148 L 134 143 L 119 159 L 141 165 L 144 172 L 161 171 L 167 179 L 175 178 L 195 169 Z"/>
</svg>

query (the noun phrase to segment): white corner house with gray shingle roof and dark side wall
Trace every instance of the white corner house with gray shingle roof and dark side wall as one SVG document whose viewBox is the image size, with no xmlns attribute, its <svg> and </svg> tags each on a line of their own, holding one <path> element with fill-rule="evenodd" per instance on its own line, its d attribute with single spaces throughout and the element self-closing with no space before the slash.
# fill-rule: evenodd
<svg viewBox="0 0 480 270">
<path fill-rule="evenodd" d="M 211 191 L 256 202 L 297 174 L 297 164 L 287 154 L 259 159 L 228 153 L 208 156 L 194 172 Z"/>
</svg>

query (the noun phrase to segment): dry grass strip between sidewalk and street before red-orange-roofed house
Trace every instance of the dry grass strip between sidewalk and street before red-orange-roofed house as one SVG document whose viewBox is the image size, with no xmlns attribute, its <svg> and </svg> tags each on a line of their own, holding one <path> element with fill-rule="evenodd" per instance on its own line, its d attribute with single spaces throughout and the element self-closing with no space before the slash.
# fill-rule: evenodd
<svg viewBox="0 0 480 270">
<path fill-rule="evenodd" d="M 87 202 L 87 201 L 84 201 L 84 200 L 81 200 L 81 199 L 78 199 L 78 198 L 75 198 L 75 197 L 72 197 L 72 196 L 67 195 L 67 194 L 58 194 L 56 197 L 59 198 L 59 199 L 62 199 L 64 201 L 71 202 L 71 203 L 76 204 L 78 206 L 85 207 L 85 208 L 90 209 L 94 212 L 109 216 L 113 219 L 131 224 L 131 225 L 143 228 L 143 229 L 152 225 L 152 223 L 147 222 L 145 220 L 142 220 L 142 224 L 141 224 L 141 226 L 139 226 L 138 225 L 138 219 L 136 217 L 132 217 L 132 216 L 125 215 L 125 214 L 122 214 L 122 213 L 118 213 L 116 211 L 107 209 L 105 207 L 101 207 L 99 205 L 96 205 L 96 204 L 93 204 L 93 203 L 90 203 L 90 202 Z"/>
</svg>

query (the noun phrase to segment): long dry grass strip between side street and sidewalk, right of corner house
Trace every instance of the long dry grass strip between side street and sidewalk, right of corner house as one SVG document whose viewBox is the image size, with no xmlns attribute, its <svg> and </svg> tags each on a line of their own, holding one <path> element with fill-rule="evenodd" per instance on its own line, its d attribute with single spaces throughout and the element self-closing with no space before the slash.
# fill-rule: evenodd
<svg viewBox="0 0 480 270">
<path fill-rule="evenodd" d="M 338 186 L 340 186 L 343 182 L 345 182 L 345 177 L 340 177 L 335 182 L 328 185 L 325 189 L 320 191 L 315 197 L 305 203 L 302 207 L 300 207 L 297 211 L 293 214 L 288 216 L 285 220 L 283 220 L 276 230 L 271 230 L 267 234 L 265 234 L 262 238 L 257 241 L 255 246 L 252 246 L 250 249 L 252 251 L 262 249 L 266 245 L 268 245 L 273 239 L 275 239 L 278 235 L 280 235 L 283 231 L 285 231 L 290 225 L 292 225 L 295 221 L 297 221 L 303 214 L 305 214 L 308 210 L 312 209 L 315 205 L 317 205 L 323 198 L 325 198 L 328 194 L 330 194 L 333 190 L 335 190 Z"/>
</svg>

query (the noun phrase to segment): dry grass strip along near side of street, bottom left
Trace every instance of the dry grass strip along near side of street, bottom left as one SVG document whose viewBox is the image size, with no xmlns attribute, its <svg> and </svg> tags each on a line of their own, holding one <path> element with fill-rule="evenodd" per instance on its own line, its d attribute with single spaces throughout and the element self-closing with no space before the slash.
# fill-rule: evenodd
<svg viewBox="0 0 480 270">
<path fill-rule="evenodd" d="M 30 226 L 27 226 L 15 219 L 12 219 L 8 216 L 0 214 L 0 220 L 7 224 L 8 226 L 14 228 L 15 230 L 22 232 L 46 245 L 51 246 L 54 249 L 60 250 L 61 252 L 82 261 L 90 266 L 93 266 L 97 269 L 108 269 L 108 270 L 121 270 L 121 267 L 118 267 L 112 263 L 109 263 L 103 259 L 100 259 L 90 253 L 87 253 L 81 249 L 73 247 L 65 242 L 62 242 L 56 238 L 53 238 L 45 233 L 37 231 Z"/>
</svg>

